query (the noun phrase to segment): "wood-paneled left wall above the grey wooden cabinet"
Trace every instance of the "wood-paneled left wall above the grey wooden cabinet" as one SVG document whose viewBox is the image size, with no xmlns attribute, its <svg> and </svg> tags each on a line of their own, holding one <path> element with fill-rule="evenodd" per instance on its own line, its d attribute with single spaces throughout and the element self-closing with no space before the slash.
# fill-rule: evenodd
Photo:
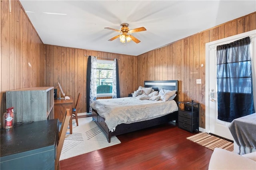
<svg viewBox="0 0 256 170">
<path fill-rule="evenodd" d="M 6 91 L 44 85 L 44 44 L 20 2 L 10 2 L 11 11 L 8 0 L 0 6 L 0 115 L 6 112 Z"/>
</svg>

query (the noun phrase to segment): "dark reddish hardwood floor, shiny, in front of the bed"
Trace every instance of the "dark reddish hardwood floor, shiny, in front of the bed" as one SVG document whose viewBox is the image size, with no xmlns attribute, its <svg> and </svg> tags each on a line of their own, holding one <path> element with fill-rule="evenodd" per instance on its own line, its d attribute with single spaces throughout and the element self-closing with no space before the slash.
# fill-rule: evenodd
<svg viewBox="0 0 256 170">
<path fill-rule="evenodd" d="M 120 144 L 62 160 L 60 169 L 207 170 L 213 151 L 186 139 L 192 135 L 173 124 L 122 134 Z"/>
</svg>

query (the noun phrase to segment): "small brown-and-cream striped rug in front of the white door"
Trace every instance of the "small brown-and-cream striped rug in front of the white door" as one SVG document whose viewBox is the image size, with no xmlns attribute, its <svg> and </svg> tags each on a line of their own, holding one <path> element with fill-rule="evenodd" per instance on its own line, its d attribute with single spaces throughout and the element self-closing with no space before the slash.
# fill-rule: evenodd
<svg viewBox="0 0 256 170">
<path fill-rule="evenodd" d="M 190 136 L 187 139 L 196 142 L 210 150 L 214 150 L 214 148 L 222 148 L 231 152 L 234 150 L 233 142 L 204 132 Z"/>
</svg>

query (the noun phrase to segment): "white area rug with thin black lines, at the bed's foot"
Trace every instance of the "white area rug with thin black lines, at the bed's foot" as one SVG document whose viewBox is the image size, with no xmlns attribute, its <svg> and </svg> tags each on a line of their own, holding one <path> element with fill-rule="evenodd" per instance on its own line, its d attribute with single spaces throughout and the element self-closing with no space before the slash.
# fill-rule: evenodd
<svg viewBox="0 0 256 170">
<path fill-rule="evenodd" d="M 92 117 L 78 119 L 78 127 L 74 120 L 72 123 L 72 134 L 69 134 L 69 129 L 67 130 L 60 160 L 121 143 L 116 136 L 112 136 L 111 142 L 108 143 L 105 134 L 98 125 L 92 121 Z"/>
</svg>

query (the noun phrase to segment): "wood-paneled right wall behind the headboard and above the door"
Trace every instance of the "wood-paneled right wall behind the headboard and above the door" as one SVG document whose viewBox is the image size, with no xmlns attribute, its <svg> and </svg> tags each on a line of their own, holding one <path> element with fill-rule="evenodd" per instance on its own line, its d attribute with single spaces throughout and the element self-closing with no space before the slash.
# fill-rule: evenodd
<svg viewBox="0 0 256 170">
<path fill-rule="evenodd" d="M 179 100 L 200 103 L 199 126 L 205 128 L 205 44 L 255 29 L 256 12 L 139 55 L 138 63 L 146 64 L 138 67 L 138 83 L 178 80 Z"/>
</svg>

